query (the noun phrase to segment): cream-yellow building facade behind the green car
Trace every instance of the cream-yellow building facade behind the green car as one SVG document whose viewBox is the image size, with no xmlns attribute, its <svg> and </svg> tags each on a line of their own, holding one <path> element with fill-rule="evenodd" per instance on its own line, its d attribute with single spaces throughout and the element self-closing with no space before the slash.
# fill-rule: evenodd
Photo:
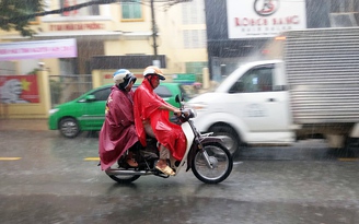
<svg viewBox="0 0 359 224">
<path fill-rule="evenodd" d="M 90 2 L 88 0 L 45 0 L 46 11 Z M 120 0 L 92 4 L 32 21 L 36 34 L 22 37 L 0 31 L 0 43 L 73 38 L 77 57 L 0 61 L 1 74 L 26 74 L 39 63 L 53 75 L 81 75 L 96 71 L 103 84 L 119 69 L 136 74 L 150 64 L 171 74 L 201 75 L 207 67 L 204 0 L 171 4 L 163 1 Z M 153 3 L 153 4 L 151 4 Z"/>
</svg>

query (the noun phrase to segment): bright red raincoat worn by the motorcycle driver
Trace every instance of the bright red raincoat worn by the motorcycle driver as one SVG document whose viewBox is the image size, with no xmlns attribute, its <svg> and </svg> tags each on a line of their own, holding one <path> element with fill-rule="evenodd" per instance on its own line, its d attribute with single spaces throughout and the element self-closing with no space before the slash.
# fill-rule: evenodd
<svg viewBox="0 0 359 224">
<path fill-rule="evenodd" d="M 181 161 L 186 151 L 186 137 L 181 126 L 169 120 L 170 113 L 159 109 L 164 104 L 166 103 L 153 92 L 151 84 L 144 79 L 134 96 L 136 131 L 141 144 L 146 145 L 146 131 L 142 121 L 149 120 L 155 139 L 171 151 L 175 160 Z"/>
</svg>

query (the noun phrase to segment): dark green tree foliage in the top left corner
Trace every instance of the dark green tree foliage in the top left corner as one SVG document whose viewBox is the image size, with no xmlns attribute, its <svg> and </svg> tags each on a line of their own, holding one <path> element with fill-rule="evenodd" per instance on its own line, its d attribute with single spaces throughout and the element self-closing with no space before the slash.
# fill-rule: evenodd
<svg viewBox="0 0 359 224">
<path fill-rule="evenodd" d="M 40 11 L 44 11 L 44 0 L 0 0 L 0 28 L 32 36 L 35 32 L 30 28 L 30 22 L 35 16 L 22 17 Z"/>
</svg>

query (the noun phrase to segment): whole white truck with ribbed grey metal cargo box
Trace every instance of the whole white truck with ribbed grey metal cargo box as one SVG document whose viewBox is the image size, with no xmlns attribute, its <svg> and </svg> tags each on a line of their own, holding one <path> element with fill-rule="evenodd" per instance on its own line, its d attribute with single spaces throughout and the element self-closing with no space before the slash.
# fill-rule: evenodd
<svg viewBox="0 0 359 224">
<path fill-rule="evenodd" d="M 358 27 L 288 31 L 266 51 L 277 59 L 244 63 L 188 102 L 200 132 L 228 137 L 232 153 L 317 138 L 341 149 L 358 140 Z"/>
</svg>

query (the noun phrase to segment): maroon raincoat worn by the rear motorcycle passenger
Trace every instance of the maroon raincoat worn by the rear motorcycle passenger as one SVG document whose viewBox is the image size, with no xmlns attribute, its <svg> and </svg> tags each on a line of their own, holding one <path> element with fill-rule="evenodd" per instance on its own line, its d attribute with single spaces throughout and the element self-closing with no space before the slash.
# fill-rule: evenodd
<svg viewBox="0 0 359 224">
<path fill-rule="evenodd" d="M 106 117 L 100 131 L 99 154 L 101 169 L 109 168 L 136 142 L 134 91 L 113 86 L 106 103 Z"/>
</svg>

